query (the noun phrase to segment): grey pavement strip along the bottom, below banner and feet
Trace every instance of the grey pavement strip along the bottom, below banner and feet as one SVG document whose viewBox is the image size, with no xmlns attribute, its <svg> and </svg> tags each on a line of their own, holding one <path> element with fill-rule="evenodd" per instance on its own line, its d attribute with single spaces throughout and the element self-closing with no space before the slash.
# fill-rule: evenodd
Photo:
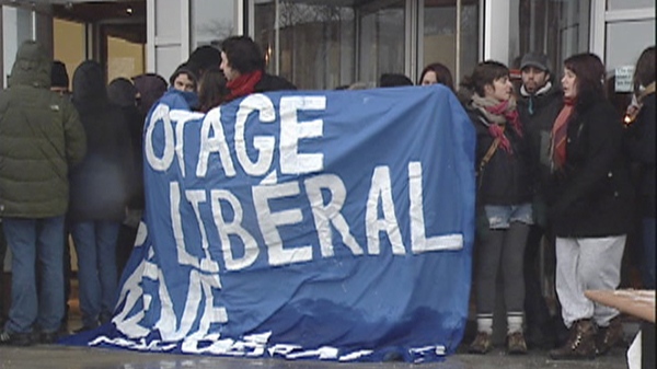
<svg viewBox="0 0 657 369">
<path fill-rule="evenodd" d="M 554 361 L 544 350 L 526 356 L 507 356 L 497 348 L 485 356 L 458 354 L 443 362 L 423 365 L 337 364 L 328 361 L 286 361 L 281 359 L 242 359 L 191 355 L 140 354 L 67 346 L 0 347 L 1 369 L 619 369 L 626 368 L 625 350 L 614 348 L 609 355 L 590 361 Z"/>
</svg>

